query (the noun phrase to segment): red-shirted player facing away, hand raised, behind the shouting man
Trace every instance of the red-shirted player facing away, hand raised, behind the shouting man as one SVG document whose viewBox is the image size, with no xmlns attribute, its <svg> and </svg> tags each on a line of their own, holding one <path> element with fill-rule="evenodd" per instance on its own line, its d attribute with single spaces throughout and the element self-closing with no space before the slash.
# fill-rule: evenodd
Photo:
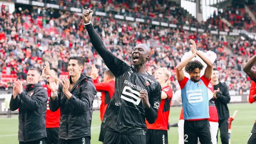
<svg viewBox="0 0 256 144">
<path fill-rule="evenodd" d="M 110 102 L 114 94 L 114 85 L 115 85 L 115 76 L 110 70 L 105 70 L 104 73 L 104 82 L 98 82 L 98 69 L 94 64 L 91 66 L 91 78 L 93 79 L 93 84 L 96 87 L 97 91 L 101 91 L 101 105 L 100 105 L 100 118 L 103 120 L 105 111 L 107 109 L 108 103 Z M 101 123 L 101 131 L 99 141 L 104 142 L 105 133 L 107 130 L 107 125 Z"/>
</svg>

